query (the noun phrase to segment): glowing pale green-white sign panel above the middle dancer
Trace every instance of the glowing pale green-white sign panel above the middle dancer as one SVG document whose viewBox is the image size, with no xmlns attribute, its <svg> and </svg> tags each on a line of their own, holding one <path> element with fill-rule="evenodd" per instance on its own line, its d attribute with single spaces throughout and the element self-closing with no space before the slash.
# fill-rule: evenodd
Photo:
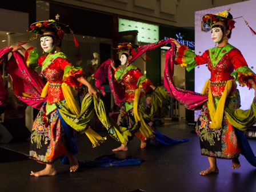
<svg viewBox="0 0 256 192">
<path fill-rule="evenodd" d="M 159 26 L 118 18 L 118 31 L 138 31 L 138 42 L 154 43 L 159 41 Z"/>
</svg>

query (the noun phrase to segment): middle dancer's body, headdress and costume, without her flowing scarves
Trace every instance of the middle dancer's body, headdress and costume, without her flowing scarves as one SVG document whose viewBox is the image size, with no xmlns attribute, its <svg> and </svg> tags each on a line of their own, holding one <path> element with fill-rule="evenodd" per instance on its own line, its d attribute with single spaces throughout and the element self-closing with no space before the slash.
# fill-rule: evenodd
<svg viewBox="0 0 256 192">
<path fill-rule="evenodd" d="M 134 99 L 135 99 L 135 90 L 140 89 L 139 97 L 145 97 L 145 93 L 149 91 L 149 89 L 155 90 L 155 86 L 141 74 L 141 70 L 134 65 L 130 65 L 129 60 L 133 57 L 135 53 L 137 53 L 137 47 L 131 43 L 122 43 L 118 46 L 118 49 L 123 51 L 120 61 L 121 65 L 125 66 L 123 70 L 122 67 L 115 68 L 114 62 L 111 62 L 111 67 L 115 71 L 115 79 L 122 83 L 125 86 L 125 98 L 126 101 L 123 103 L 120 109 L 120 114 L 118 116 L 117 124 L 122 127 L 127 127 L 129 130 L 134 131 L 135 135 L 141 139 L 141 149 L 146 147 L 146 139 L 149 139 L 153 136 L 152 130 L 150 127 L 145 126 L 145 128 L 149 131 L 147 137 L 143 137 L 141 131 L 134 130 L 135 129 L 135 118 L 134 118 Z M 133 55 L 132 55 L 133 54 Z M 126 151 L 128 147 L 121 144 L 120 147 L 113 149 L 113 151 Z"/>
</svg>

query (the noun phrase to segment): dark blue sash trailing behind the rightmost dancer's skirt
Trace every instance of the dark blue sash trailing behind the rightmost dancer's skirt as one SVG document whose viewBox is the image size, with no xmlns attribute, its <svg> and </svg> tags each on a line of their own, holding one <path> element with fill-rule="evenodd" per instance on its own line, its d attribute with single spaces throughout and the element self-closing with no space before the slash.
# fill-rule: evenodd
<svg viewBox="0 0 256 192">
<path fill-rule="evenodd" d="M 253 150 L 251 150 L 251 146 L 243 134 L 243 131 L 235 129 L 235 133 L 237 135 L 237 141 L 238 146 L 240 149 L 240 152 L 243 156 L 245 156 L 246 160 L 254 167 L 256 167 L 256 157 L 253 153 Z"/>
</svg>

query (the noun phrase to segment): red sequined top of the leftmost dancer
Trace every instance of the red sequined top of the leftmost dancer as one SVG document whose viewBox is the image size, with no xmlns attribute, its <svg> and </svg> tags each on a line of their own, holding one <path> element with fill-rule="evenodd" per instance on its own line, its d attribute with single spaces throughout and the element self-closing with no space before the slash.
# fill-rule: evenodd
<svg viewBox="0 0 256 192">
<path fill-rule="evenodd" d="M 38 65 L 42 66 L 46 55 L 38 58 Z M 47 66 L 42 72 L 47 81 L 49 82 L 47 90 L 47 102 L 49 104 L 61 101 L 64 98 L 61 83 L 65 82 L 70 86 L 79 87 L 80 83 L 77 78 L 83 75 L 82 70 L 69 71 L 69 77 L 63 80 L 63 74 L 66 66 L 72 66 L 66 58 L 57 57 L 55 58 L 49 66 Z"/>
</svg>

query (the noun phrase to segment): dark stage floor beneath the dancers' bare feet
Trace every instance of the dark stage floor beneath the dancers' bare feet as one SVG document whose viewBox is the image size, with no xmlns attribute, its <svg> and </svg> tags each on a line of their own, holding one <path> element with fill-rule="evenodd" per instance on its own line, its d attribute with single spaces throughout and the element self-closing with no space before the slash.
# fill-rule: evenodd
<svg viewBox="0 0 256 192">
<path fill-rule="evenodd" d="M 199 171 L 208 167 L 208 162 L 201 156 L 197 135 L 190 133 L 192 128 L 185 123 L 158 127 L 159 132 L 171 138 L 188 138 L 189 142 L 139 149 L 139 140 L 134 138 L 129 151 L 115 153 L 120 158 L 127 155 L 142 158 L 145 162 L 141 165 L 93 167 L 69 173 L 69 166 L 57 161 L 58 175 L 51 177 L 30 177 L 30 170 L 41 170 L 44 165 L 25 156 L 29 142 L 2 144 L 0 191 L 256 191 L 256 169 L 242 155 L 238 170 L 231 169 L 230 160 L 218 159 L 219 174 L 199 175 Z M 250 139 L 249 142 L 256 153 L 256 141 Z M 111 149 L 119 144 L 108 138 L 102 146 L 91 149 L 86 136 L 79 135 L 78 146 L 78 159 L 92 161 L 112 154 Z"/>
</svg>

